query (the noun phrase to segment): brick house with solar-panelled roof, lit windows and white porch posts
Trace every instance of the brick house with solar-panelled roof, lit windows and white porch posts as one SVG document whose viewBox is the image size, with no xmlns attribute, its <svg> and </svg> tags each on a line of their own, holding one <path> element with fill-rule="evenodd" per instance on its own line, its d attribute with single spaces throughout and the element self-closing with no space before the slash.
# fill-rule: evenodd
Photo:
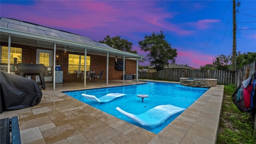
<svg viewBox="0 0 256 144">
<path fill-rule="evenodd" d="M 17 63 L 44 64 L 53 72 L 52 77 L 45 77 L 50 82 L 55 80 L 55 66 L 60 65 L 63 82 L 76 81 L 75 70 L 102 70 L 102 79 L 108 84 L 108 80 L 122 79 L 124 74 L 138 74 L 138 61 L 144 57 L 85 36 L 12 18 L 0 18 L 0 47 L 1 71 L 17 70 L 13 58 L 18 58 Z M 116 58 L 125 60 L 125 71 L 115 69 Z"/>
</svg>

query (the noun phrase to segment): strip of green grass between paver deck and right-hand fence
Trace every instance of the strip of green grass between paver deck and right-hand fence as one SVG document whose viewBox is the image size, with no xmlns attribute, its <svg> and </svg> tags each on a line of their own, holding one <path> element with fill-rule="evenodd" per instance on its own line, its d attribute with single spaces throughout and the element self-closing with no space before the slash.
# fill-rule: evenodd
<svg viewBox="0 0 256 144">
<path fill-rule="evenodd" d="M 255 144 L 256 131 L 249 116 L 238 110 L 231 95 L 236 90 L 234 84 L 224 86 L 224 100 L 220 115 L 217 144 Z"/>
</svg>

